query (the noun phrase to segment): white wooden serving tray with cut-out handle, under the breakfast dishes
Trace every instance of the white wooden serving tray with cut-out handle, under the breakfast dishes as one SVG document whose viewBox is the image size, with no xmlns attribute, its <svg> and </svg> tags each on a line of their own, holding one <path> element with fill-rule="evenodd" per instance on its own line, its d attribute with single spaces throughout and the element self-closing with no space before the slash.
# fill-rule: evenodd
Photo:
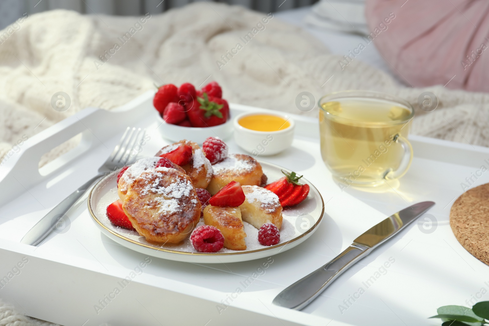
<svg viewBox="0 0 489 326">
<path fill-rule="evenodd" d="M 321 160 L 316 119 L 299 116 L 292 148 L 264 159 L 310 179 L 324 198 L 326 215 L 311 238 L 287 252 L 226 264 L 151 258 L 104 236 L 86 202 L 68 212 L 66 227 L 38 247 L 19 243 L 50 208 L 96 174 L 125 127 L 149 130 L 143 155 L 165 143 L 156 130 L 152 95 L 113 112 L 85 109 L 27 140 L 0 167 L 0 298 L 65 326 L 440 325 L 427 319 L 437 307 L 470 305 L 472 297 L 489 300 L 489 267 L 465 251 L 448 224 L 461 183 L 481 165 L 488 167 L 488 148 L 411 136 L 415 157 L 398 188 L 341 191 Z M 254 109 L 231 105 L 232 114 Z M 44 152 L 80 132 L 78 148 L 38 172 Z M 242 152 L 228 143 L 231 152 Z M 470 186 L 489 182 L 489 173 L 472 180 Z M 437 205 L 304 310 L 271 304 L 284 287 L 385 216 L 423 200 Z"/>
</svg>

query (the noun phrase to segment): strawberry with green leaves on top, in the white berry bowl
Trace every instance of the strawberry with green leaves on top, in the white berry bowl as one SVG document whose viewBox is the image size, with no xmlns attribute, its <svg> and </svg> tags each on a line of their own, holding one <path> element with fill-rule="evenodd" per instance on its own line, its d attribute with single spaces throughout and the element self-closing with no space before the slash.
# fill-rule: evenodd
<svg viewBox="0 0 489 326">
<path fill-rule="evenodd" d="M 188 119 L 192 127 L 212 127 L 222 125 L 226 122 L 228 113 L 223 109 L 223 104 L 218 104 L 214 100 L 210 101 L 207 93 L 203 97 L 198 97 L 192 107 L 187 111 Z M 215 99 L 215 98 L 213 98 Z M 190 107 L 190 104 L 188 104 Z"/>
</svg>

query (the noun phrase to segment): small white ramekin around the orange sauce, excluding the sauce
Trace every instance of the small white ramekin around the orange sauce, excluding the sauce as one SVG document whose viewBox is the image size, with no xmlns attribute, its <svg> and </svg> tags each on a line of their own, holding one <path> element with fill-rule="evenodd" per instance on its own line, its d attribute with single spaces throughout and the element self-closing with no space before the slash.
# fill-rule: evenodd
<svg viewBox="0 0 489 326">
<path fill-rule="evenodd" d="M 278 131 L 256 131 L 244 128 L 238 121 L 248 115 L 268 114 L 281 117 L 290 123 L 290 126 Z M 274 155 L 288 149 L 294 139 L 295 123 L 289 114 L 280 112 L 245 112 L 234 118 L 234 141 L 239 147 L 253 156 Z"/>
</svg>

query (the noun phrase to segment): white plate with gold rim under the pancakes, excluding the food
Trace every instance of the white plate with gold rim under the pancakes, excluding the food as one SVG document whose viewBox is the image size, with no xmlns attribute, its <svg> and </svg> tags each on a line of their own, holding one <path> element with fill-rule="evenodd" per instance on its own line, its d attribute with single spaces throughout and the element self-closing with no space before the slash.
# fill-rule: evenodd
<svg viewBox="0 0 489 326">
<path fill-rule="evenodd" d="M 289 171 L 275 164 L 259 162 L 269 181 L 275 181 L 283 177 L 282 169 Z M 134 251 L 172 261 L 200 263 L 250 261 L 289 250 L 308 239 L 316 230 L 324 214 L 323 198 L 311 182 L 304 177 L 301 178 L 301 181 L 309 184 L 311 190 L 303 202 L 294 207 L 284 209 L 282 213 L 282 228 L 280 229 L 280 242 L 269 247 L 260 244 L 258 242 L 258 230 L 243 222 L 247 249 L 242 251 L 222 248 L 217 253 L 200 253 L 190 243 L 190 237 L 185 239 L 180 245 L 157 245 L 146 241 L 136 231 L 114 226 L 106 216 L 106 208 L 113 201 L 119 199 L 115 175 L 107 175 L 93 187 L 89 194 L 88 206 L 90 215 L 103 234 Z M 200 224 L 203 224 L 202 218 L 198 225 Z"/>
</svg>

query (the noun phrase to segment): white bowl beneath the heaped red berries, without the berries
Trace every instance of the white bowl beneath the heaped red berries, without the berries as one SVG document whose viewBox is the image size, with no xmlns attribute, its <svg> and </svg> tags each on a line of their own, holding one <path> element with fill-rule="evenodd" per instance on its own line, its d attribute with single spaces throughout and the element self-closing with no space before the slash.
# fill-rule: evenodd
<svg viewBox="0 0 489 326">
<path fill-rule="evenodd" d="M 174 142 L 187 139 L 201 145 L 207 137 L 218 136 L 222 140 L 226 140 L 233 132 L 232 119 L 227 120 L 222 125 L 206 128 L 181 127 L 166 123 L 163 119 L 161 122 L 162 124 L 158 128 L 161 136 Z"/>
</svg>

